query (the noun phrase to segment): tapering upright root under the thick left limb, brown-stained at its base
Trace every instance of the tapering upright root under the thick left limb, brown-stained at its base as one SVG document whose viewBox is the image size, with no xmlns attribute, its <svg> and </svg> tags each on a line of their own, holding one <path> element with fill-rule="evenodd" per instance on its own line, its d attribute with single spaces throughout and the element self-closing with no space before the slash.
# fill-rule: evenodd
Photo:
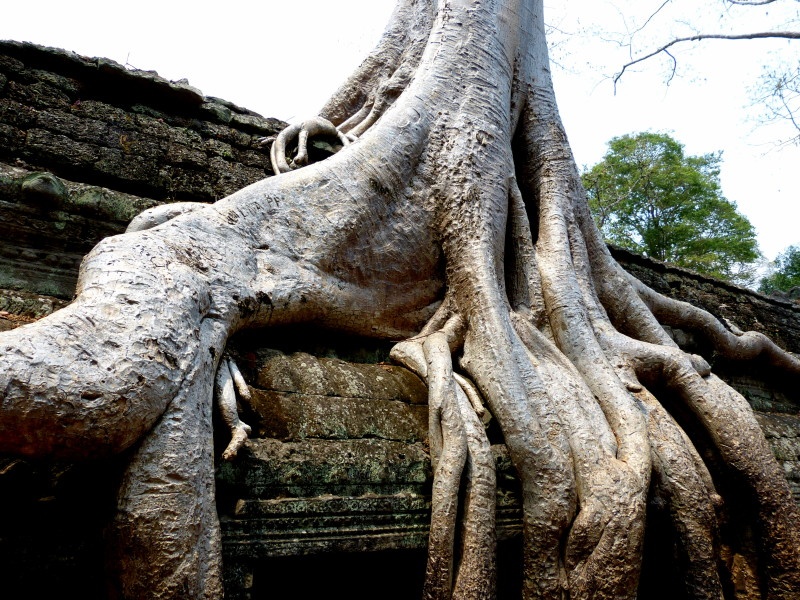
<svg viewBox="0 0 800 600">
<path fill-rule="evenodd" d="M 214 365 L 204 358 L 125 469 L 108 539 L 116 597 L 222 597 L 210 419 Z"/>
</svg>

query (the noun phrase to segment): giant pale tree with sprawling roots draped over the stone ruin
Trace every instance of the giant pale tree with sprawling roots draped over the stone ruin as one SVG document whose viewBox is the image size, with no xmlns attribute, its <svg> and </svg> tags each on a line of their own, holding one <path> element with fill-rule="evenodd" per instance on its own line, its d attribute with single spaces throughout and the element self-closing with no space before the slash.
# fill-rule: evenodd
<svg viewBox="0 0 800 600">
<path fill-rule="evenodd" d="M 704 444 L 751 502 L 752 577 L 770 598 L 794 597 L 798 509 L 783 474 L 747 402 L 661 323 L 795 376 L 800 361 L 656 294 L 611 258 L 558 116 L 541 0 L 401 0 L 321 118 L 343 150 L 211 206 L 155 209 L 133 229 L 160 225 L 86 257 L 72 304 L 0 337 L 0 451 L 131 452 L 113 536 L 119 595 L 221 594 L 215 378 L 223 415 L 246 433 L 231 411 L 226 340 L 306 322 L 404 340 L 394 358 L 428 384 L 426 597 L 494 592 L 482 399 L 520 477 L 525 598 L 634 598 L 651 484 L 687 589 L 732 589 Z M 279 170 L 294 135 L 302 148 L 314 131 L 330 128 L 314 119 L 279 137 Z"/>
</svg>

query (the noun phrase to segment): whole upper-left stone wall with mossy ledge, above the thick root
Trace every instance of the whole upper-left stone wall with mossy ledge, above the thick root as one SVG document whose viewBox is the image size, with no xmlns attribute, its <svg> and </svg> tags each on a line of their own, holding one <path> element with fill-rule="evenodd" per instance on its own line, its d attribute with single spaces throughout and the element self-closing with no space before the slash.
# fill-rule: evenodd
<svg viewBox="0 0 800 600">
<path fill-rule="evenodd" d="M 69 298 L 83 255 L 143 209 L 271 175 L 264 141 L 284 126 L 153 72 L 0 42 L 0 288 Z"/>
</svg>

